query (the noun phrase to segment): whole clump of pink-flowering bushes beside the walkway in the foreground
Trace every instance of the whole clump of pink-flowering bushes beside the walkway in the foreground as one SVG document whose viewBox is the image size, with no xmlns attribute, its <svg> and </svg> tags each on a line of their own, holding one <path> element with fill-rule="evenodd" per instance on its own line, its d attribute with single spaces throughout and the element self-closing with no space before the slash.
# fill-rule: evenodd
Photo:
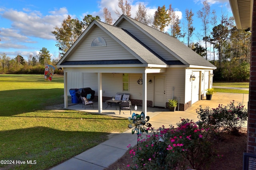
<svg viewBox="0 0 256 170">
<path fill-rule="evenodd" d="M 182 119 L 177 128 L 160 128 L 152 136 L 140 140 L 130 155 L 132 169 L 204 169 L 212 160 L 211 142 L 206 129 L 199 129 L 192 120 Z"/>
</svg>

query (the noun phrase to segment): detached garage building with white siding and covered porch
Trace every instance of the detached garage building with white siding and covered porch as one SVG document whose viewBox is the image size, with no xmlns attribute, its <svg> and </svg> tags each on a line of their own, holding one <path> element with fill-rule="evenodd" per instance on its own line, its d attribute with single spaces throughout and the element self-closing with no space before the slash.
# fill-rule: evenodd
<svg viewBox="0 0 256 170">
<path fill-rule="evenodd" d="M 173 98 L 184 111 L 204 98 L 216 69 L 174 37 L 124 15 L 114 25 L 94 20 L 57 66 L 64 69 L 65 107 L 69 89 L 90 87 L 99 113 L 118 92 L 145 113 Z"/>
</svg>

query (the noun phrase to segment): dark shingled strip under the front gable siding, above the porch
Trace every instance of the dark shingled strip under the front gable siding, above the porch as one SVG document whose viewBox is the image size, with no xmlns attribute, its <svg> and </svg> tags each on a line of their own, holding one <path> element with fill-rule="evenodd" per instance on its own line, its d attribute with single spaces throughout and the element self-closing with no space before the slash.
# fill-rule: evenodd
<svg viewBox="0 0 256 170">
<path fill-rule="evenodd" d="M 142 64 L 139 60 L 99 60 L 99 61 L 65 61 L 60 65 L 107 65 L 107 64 Z"/>
</svg>

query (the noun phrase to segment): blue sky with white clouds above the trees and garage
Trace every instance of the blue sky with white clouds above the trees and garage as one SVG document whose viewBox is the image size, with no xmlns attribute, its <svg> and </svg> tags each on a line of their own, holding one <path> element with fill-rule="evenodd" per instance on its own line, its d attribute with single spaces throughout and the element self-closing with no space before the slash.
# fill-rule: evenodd
<svg viewBox="0 0 256 170">
<path fill-rule="evenodd" d="M 203 0 L 128 0 L 132 6 L 132 18 L 135 17 L 138 4 L 146 6 L 147 13 L 154 16 L 158 6 L 166 8 L 172 4 L 172 8 L 186 24 L 185 10 L 194 12 L 193 26 L 196 27 L 192 41 L 198 42 L 197 33 L 202 32 L 201 21 L 196 12 L 202 8 Z M 125 2 L 125 0 L 124 0 Z M 208 0 L 211 10 L 232 16 L 228 0 Z M 62 21 L 68 16 L 82 20 L 85 15 L 100 16 L 104 22 L 103 8 L 107 7 L 114 21 L 118 19 L 115 10 L 118 10 L 118 0 L 2 0 L 0 1 L 0 54 L 14 58 L 22 55 L 24 59 L 31 54 L 40 52 L 42 47 L 47 48 L 52 54 L 52 59 L 58 57 L 56 40 L 51 31 L 54 27 L 60 27 Z M 186 41 L 185 41 L 186 42 Z"/>
</svg>

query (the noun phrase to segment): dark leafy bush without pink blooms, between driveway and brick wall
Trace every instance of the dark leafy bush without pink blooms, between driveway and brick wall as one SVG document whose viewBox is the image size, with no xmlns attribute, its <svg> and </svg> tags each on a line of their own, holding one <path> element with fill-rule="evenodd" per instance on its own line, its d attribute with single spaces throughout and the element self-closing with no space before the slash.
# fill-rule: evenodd
<svg viewBox="0 0 256 170">
<path fill-rule="evenodd" d="M 247 109 L 241 103 L 235 106 L 234 100 L 228 106 L 219 104 L 216 109 L 210 109 L 210 107 L 203 109 L 200 106 L 196 113 L 198 113 L 202 127 L 209 128 L 215 137 L 226 130 L 239 135 L 239 129 L 248 118 Z"/>
</svg>

